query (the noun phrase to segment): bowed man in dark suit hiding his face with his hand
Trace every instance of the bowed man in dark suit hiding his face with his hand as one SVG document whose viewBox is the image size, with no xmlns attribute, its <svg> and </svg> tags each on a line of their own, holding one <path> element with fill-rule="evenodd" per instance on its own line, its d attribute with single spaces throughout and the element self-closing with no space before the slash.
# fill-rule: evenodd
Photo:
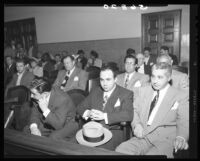
<svg viewBox="0 0 200 161">
<path fill-rule="evenodd" d="M 53 139 L 70 139 L 78 130 L 75 122 L 75 106 L 69 95 L 49 82 L 35 79 L 31 86 L 34 100 L 30 124 L 24 132 Z"/>
</svg>

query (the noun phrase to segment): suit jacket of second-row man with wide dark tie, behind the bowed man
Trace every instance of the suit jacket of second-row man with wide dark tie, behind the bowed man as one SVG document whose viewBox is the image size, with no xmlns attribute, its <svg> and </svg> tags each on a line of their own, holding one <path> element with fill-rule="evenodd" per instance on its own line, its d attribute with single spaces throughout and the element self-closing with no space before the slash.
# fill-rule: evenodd
<svg viewBox="0 0 200 161">
<path fill-rule="evenodd" d="M 54 87 L 60 87 L 63 80 L 66 76 L 66 70 L 60 70 L 58 72 L 57 78 L 53 84 Z M 70 75 L 67 84 L 65 85 L 66 91 L 69 91 L 71 89 L 86 89 L 86 84 L 88 80 L 88 73 L 84 70 L 75 67 L 73 73 Z"/>
</svg>

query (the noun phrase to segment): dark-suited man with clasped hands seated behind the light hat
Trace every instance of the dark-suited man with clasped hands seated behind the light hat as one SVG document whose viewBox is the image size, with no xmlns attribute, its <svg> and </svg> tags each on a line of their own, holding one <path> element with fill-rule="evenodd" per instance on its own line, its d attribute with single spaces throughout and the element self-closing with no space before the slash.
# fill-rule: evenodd
<svg viewBox="0 0 200 161">
<path fill-rule="evenodd" d="M 110 129 L 113 138 L 101 147 L 114 150 L 122 141 L 122 131 L 112 130 L 112 125 L 133 119 L 133 93 L 116 85 L 116 74 L 110 66 L 100 71 L 101 87 L 95 88 L 77 107 L 77 112 L 85 119 L 99 121 Z"/>
</svg>

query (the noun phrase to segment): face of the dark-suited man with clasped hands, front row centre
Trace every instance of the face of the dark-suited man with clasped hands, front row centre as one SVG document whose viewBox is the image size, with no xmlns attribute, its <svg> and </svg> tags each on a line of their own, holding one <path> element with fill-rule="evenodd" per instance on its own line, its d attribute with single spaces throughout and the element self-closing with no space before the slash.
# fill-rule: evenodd
<svg viewBox="0 0 200 161">
<path fill-rule="evenodd" d="M 116 84 L 116 78 L 112 70 L 107 69 L 100 72 L 100 84 L 104 91 L 112 90 Z"/>
</svg>

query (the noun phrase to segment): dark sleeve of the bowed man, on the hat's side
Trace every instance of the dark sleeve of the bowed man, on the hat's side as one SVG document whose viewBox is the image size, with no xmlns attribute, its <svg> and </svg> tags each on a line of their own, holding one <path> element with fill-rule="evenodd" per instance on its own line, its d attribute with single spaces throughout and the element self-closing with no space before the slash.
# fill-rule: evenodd
<svg viewBox="0 0 200 161">
<path fill-rule="evenodd" d="M 47 115 L 45 122 L 53 126 L 56 130 L 61 129 L 67 120 L 75 117 L 74 109 L 75 106 L 70 98 L 63 101 L 60 100 L 60 104 L 55 107 L 55 110 Z"/>
</svg>

